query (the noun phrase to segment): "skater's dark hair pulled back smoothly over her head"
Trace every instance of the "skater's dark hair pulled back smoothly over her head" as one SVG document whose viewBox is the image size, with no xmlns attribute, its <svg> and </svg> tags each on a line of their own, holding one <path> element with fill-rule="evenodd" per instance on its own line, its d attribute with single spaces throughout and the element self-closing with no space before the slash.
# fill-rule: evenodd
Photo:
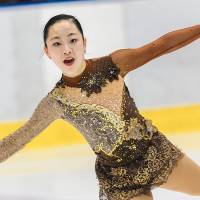
<svg viewBox="0 0 200 200">
<path fill-rule="evenodd" d="M 43 30 L 43 40 L 44 40 L 45 47 L 47 47 L 46 40 L 47 40 L 47 37 L 48 37 L 49 28 L 53 24 L 55 24 L 56 22 L 58 22 L 58 21 L 61 21 L 61 20 L 70 20 L 70 19 L 76 25 L 76 27 L 80 31 L 80 33 L 82 35 L 82 38 L 84 40 L 83 29 L 81 27 L 80 22 L 73 15 L 60 14 L 60 15 L 56 15 L 56 16 L 52 17 L 51 19 L 49 19 L 49 21 L 46 23 L 46 25 L 44 27 L 44 30 Z"/>
</svg>

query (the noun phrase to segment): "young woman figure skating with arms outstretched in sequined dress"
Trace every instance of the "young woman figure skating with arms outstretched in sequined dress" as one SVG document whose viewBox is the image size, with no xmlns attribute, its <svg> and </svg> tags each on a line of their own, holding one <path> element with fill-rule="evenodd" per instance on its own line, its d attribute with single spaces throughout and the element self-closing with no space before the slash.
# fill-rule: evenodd
<svg viewBox="0 0 200 200">
<path fill-rule="evenodd" d="M 139 113 L 124 82 L 128 72 L 199 37 L 200 25 L 195 25 L 139 48 L 85 59 L 78 20 L 52 17 L 44 28 L 44 51 L 62 76 L 30 119 L 1 140 L 0 160 L 62 118 L 80 130 L 97 155 L 101 200 L 152 200 L 151 190 L 158 186 L 200 196 L 200 167 Z"/>
</svg>

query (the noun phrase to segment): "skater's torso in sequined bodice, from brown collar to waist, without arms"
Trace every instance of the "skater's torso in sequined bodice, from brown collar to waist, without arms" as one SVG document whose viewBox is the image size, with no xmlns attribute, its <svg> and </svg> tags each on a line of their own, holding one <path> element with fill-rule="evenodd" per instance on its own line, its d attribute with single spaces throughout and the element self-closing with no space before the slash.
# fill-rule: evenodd
<svg viewBox="0 0 200 200">
<path fill-rule="evenodd" d="M 140 157 L 156 131 L 139 114 L 110 56 L 87 60 L 81 76 L 62 76 L 50 95 L 62 107 L 62 118 L 83 134 L 106 164 Z"/>
</svg>

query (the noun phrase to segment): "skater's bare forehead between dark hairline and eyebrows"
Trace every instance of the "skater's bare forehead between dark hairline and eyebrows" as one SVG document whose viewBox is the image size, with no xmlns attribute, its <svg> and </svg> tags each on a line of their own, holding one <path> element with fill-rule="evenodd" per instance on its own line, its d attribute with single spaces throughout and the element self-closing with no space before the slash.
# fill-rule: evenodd
<svg viewBox="0 0 200 200">
<path fill-rule="evenodd" d="M 66 35 L 68 33 L 80 34 L 76 25 L 69 20 L 61 20 L 49 27 L 48 38 L 56 35 Z"/>
</svg>

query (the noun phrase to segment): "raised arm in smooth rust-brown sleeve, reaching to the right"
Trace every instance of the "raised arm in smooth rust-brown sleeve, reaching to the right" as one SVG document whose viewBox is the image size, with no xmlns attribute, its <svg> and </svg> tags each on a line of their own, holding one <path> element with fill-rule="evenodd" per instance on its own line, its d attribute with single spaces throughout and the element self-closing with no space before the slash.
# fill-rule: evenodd
<svg viewBox="0 0 200 200">
<path fill-rule="evenodd" d="M 200 25 L 169 32 L 153 42 L 135 49 L 119 49 L 110 54 L 121 76 L 150 60 L 170 53 L 200 38 Z"/>
</svg>

